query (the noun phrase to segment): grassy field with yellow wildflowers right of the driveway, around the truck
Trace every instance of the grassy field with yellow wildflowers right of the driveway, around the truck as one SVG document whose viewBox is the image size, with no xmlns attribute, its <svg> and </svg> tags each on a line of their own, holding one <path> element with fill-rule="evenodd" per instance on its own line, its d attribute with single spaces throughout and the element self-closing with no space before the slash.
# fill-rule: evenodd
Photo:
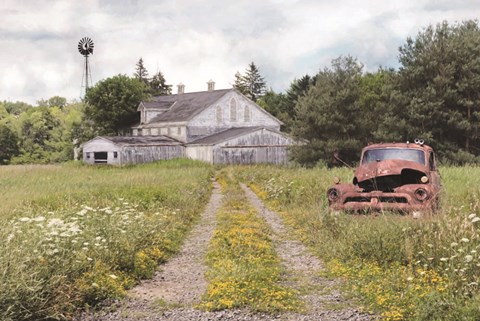
<svg viewBox="0 0 480 321">
<path fill-rule="evenodd" d="M 325 192 L 347 169 L 238 167 L 297 236 L 385 320 L 480 319 L 480 168 L 442 168 L 441 211 L 420 220 L 331 215 Z"/>
</svg>

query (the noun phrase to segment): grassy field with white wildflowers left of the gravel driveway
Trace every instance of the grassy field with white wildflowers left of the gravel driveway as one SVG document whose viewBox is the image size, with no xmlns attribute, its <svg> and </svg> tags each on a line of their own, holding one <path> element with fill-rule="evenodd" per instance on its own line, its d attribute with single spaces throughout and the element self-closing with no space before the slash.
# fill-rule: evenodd
<svg viewBox="0 0 480 321">
<path fill-rule="evenodd" d="M 121 297 L 178 249 L 212 167 L 0 167 L 0 319 L 68 318 Z"/>
</svg>

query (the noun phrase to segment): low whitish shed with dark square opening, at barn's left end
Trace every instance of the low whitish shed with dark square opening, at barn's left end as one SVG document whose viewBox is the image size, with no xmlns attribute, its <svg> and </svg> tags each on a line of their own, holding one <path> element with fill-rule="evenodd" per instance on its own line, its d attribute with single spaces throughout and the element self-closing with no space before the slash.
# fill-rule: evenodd
<svg viewBox="0 0 480 321">
<path fill-rule="evenodd" d="M 97 136 L 84 143 L 87 164 L 138 164 L 185 157 L 185 146 L 167 136 Z"/>
</svg>

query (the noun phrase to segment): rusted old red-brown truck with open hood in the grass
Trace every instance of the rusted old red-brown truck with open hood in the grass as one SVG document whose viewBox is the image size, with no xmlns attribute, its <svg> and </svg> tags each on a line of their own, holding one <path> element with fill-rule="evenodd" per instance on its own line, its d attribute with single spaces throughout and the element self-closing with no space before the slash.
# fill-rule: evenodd
<svg viewBox="0 0 480 321">
<path fill-rule="evenodd" d="M 369 145 L 352 184 L 334 182 L 327 191 L 334 210 L 434 211 L 441 190 L 434 151 L 422 142 Z"/>
</svg>

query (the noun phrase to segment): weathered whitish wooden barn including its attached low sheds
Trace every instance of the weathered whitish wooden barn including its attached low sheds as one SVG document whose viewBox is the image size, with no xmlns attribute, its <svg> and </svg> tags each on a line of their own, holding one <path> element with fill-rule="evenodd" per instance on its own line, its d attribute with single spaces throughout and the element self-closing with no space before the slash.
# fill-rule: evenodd
<svg viewBox="0 0 480 321">
<path fill-rule="evenodd" d="M 286 163 L 293 141 L 280 132 L 281 121 L 237 90 L 208 84 L 208 91 L 184 93 L 179 85 L 177 94 L 141 102 L 132 136 L 85 143 L 84 161 L 122 165 L 189 157 L 212 164 Z"/>
</svg>

